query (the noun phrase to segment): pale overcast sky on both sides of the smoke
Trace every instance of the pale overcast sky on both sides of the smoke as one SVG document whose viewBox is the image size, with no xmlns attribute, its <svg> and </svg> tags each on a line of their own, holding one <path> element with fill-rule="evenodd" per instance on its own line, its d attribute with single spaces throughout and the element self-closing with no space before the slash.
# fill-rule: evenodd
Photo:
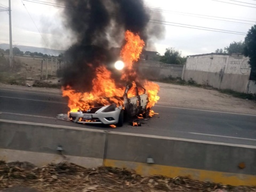
<svg viewBox="0 0 256 192">
<path fill-rule="evenodd" d="M 13 46 L 26 45 L 65 50 L 75 42 L 70 31 L 62 25 L 63 8 L 30 2 L 33 0 L 11 1 Z M 145 0 L 144 2 L 149 14 L 162 14 L 161 20 L 156 19 L 157 21 L 154 22 L 165 21 L 164 36 L 162 39 L 155 39 L 154 46 L 149 48 L 149 51 L 157 51 L 160 54 L 164 54 L 167 47 L 181 51 L 182 56 L 212 53 L 229 46 L 231 42 L 244 41 L 248 30 L 256 24 L 256 0 Z M 0 7 L 8 6 L 8 3 L 9 0 L 0 0 Z M 162 25 L 158 23 L 150 23 L 150 25 Z M 199 28 L 195 26 L 206 30 L 193 29 Z M 209 31 L 216 29 L 226 33 Z M 7 12 L 0 12 L 0 43 L 9 44 Z"/>
</svg>

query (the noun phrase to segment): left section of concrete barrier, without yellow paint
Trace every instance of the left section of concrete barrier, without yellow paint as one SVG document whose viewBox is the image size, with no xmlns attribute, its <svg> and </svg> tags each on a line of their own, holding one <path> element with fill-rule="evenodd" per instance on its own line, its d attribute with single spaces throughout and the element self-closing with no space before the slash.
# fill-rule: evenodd
<svg viewBox="0 0 256 192">
<path fill-rule="evenodd" d="M 0 120 L 0 159 L 38 166 L 68 160 L 98 167 L 103 164 L 105 137 L 102 131 Z M 59 146 L 62 155 L 57 150 Z"/>
</svg>

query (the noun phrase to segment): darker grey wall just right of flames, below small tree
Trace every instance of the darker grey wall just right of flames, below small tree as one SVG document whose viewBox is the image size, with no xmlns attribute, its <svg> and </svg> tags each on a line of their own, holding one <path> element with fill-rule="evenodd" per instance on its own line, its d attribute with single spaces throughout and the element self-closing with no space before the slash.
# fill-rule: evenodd
<svg viewBox="0 0 256 192">
<path fill-rule="evenodd" d="M 166 64 L 160 61 L 141 60 L 139 63 L 140 73 L 149 79 L 162 79 L 172 76 L 181 77 L 183 65 Z"/>
</svg>

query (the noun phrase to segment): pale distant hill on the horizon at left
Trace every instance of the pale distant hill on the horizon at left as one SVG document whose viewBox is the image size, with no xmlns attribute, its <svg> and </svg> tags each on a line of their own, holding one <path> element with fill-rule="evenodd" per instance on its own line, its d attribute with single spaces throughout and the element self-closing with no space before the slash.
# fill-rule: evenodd
<svg viewBox="0 0 256 192">
<path fill-rule="evenodd" d="M 47 48 L 42 48 L 42 47 L 33 47 L 33 46 L 24 46 L 24 45 L 13 45 L 13 47 L 18 47 L 20 51 L 26 52 L 38 52 L 38 53 L 43 53 L 43 54 L 50 54 L 50 55 L 59 55 L 60 53 L 63 53 L 63 50 L 50 50 Z M 0 49 L 9 49 L 10 46 L 9 44 L 2 43 L 0 44 Z"/>
</svg>

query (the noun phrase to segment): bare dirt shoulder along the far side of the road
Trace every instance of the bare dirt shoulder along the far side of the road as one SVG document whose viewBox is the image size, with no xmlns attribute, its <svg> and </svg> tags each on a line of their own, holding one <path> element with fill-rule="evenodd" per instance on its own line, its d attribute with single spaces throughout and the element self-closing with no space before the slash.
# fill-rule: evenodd
<svg viewBox="0 0 256 192">
<path fill-rule="evenodd" d="M 234 98 L 231 95 L 223 94 L 216 90 L 203 89 L 199 87 L 158 82 L 157 84 L 160 86 L 160 100 L 156 104 L 158 106 L 203 109 L 256 115 L 255 101 Z M 60 89 L 26 87 L 1 83 L 0 89 L 61 94 Z"/>
</svg>

